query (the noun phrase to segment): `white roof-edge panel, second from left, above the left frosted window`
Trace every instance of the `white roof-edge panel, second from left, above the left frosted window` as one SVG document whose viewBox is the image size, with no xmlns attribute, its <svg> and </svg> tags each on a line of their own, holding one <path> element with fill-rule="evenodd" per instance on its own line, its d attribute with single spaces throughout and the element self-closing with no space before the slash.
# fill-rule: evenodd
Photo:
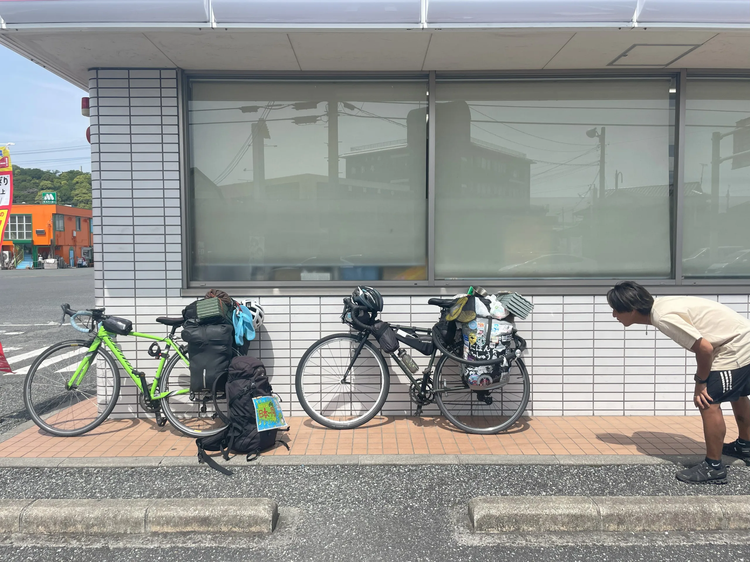
<svg viewBox="0 0 750 562">
<path fill-rule="evenodd" d="M 213 0 L 217 23 L 415 23 L 419 0 Z"/>
</svg>

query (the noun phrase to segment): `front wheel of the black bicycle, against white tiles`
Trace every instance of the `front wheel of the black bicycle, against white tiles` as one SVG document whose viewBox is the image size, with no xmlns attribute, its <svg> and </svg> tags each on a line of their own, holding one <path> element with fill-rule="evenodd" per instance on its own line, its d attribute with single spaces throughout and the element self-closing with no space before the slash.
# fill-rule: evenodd
<svg viewBox="0 0 750 562">
<path fill-rule="evenodd" d="M 308 416 L 323 426 L 361 426 L 386 403 L 391 382 L 386 361 L 371 342 L 365 341 L 352 364 L 359 344 L 357 336 L 350 333 L 326 336 L 305 351 L 297 366 L 299 402 Z"/>
</svg>

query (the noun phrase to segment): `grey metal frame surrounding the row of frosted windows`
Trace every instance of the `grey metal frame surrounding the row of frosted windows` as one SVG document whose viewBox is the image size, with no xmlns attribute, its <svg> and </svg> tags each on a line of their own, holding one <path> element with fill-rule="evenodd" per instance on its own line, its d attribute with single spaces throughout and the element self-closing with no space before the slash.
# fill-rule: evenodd
<svg viewBox="0 0 750 562">
<path fill-rule="evenodd" d="M 421 281 L 392 281 L 369 280 L 366 284 L 386 289 L 390 294 L 454 294 L 454 288 L 465 288 L 472 284 L 472 280 L 435 280 L 435 115 L 436 96 L 434 95 L 438 81 L 483 81 L 496 80 L 550 80 L 550 79 L 647 79 L 669 78 L 675 82 L 675 113 L 674 113 L 674 163 L 673 163 L 673 213 L 674 221 L 671 226 L 670 243 L 672 248 L 671 274 L 666 279 L 634 279 L 661 294 L 747 294 L 750 278 L 715 279 L 715 278 L 682 278 L 682 220 L 684 208 L 684 178 L 682 162 L 685 148 L 685 88 L 690 77 L 715 77 L 717 79 L 735 77 L 750 79 L 750 73 L 716 71 L 692 72 L 688 69 L 600 69 L 590 71 L 580 70 L 507 70 L 507 71 L 461 71 L 461 72 L 233 72 L 233 71 L 178 71 L 178 127 L 181 137 L 180 143 L 180 184 L 181 184 L 181 234 L 185 241 L 181 248 L 182 259 L 182 294 L 196 295 L 205 292 L 208 285 L 225 288 L 256 288 L 258 294 L 341 294 L 342 288 L 350 288 L 357 281 L 193 281 L 190 279 L 190 240 L 192 238 L 192 224 L 190 217 L 190 138 L 189 120 L 187 118 L 187 100 L 190 99 L 191 79 L 247 79 L 253 81 L 280 82 L 290 81 L 398 81 L 399 79 L 422 79 L 428 88 L 428 139 L 427 139 L 427 193 L 428 193 L 428 232 L 427 256 L 428 279 Z M 498 279 L 478 281 L 484 286 L 499 288 L 523 289 L 526 294 L 604 294 L 607 288 L 618 282 L 619 278 L 590 279 Z M 365 282 L 365 281 L 363 281 Z M 412 291 L 404 291 L 407 287 Z M 388 290 L 390 289 L 390 290 Z M 282 292 L 279 292 L 282 291 Z"/>
</svg>

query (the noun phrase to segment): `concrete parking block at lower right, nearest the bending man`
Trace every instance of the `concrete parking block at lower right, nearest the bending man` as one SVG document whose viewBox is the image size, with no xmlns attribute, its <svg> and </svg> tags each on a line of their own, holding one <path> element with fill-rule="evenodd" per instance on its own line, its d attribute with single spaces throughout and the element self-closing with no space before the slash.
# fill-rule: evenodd
<svg viewBox="0 0 750 562">
<path fill-rule="evenodd" d="M 750 496 L 505 496 L 469 500 L 476 532 L 750 529 Z"/>
</svg>

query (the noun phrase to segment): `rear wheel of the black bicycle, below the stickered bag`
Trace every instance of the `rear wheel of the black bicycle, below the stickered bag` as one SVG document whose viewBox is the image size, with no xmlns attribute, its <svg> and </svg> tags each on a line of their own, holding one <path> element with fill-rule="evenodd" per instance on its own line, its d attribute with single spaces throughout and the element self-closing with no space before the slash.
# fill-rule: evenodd
<svg viewBox="0 0 750 562">
<path fill-rule="evenodd" d="M 443 355 L 435 369 L 435 400 L 443 415 L 465 432 L 502 432 L 523 415 L 531 392 L 523 360 L 513 360 L 509 375 L 502 387 L 472 390 L 463 380 L 460 363 Z"/>
</svg>

